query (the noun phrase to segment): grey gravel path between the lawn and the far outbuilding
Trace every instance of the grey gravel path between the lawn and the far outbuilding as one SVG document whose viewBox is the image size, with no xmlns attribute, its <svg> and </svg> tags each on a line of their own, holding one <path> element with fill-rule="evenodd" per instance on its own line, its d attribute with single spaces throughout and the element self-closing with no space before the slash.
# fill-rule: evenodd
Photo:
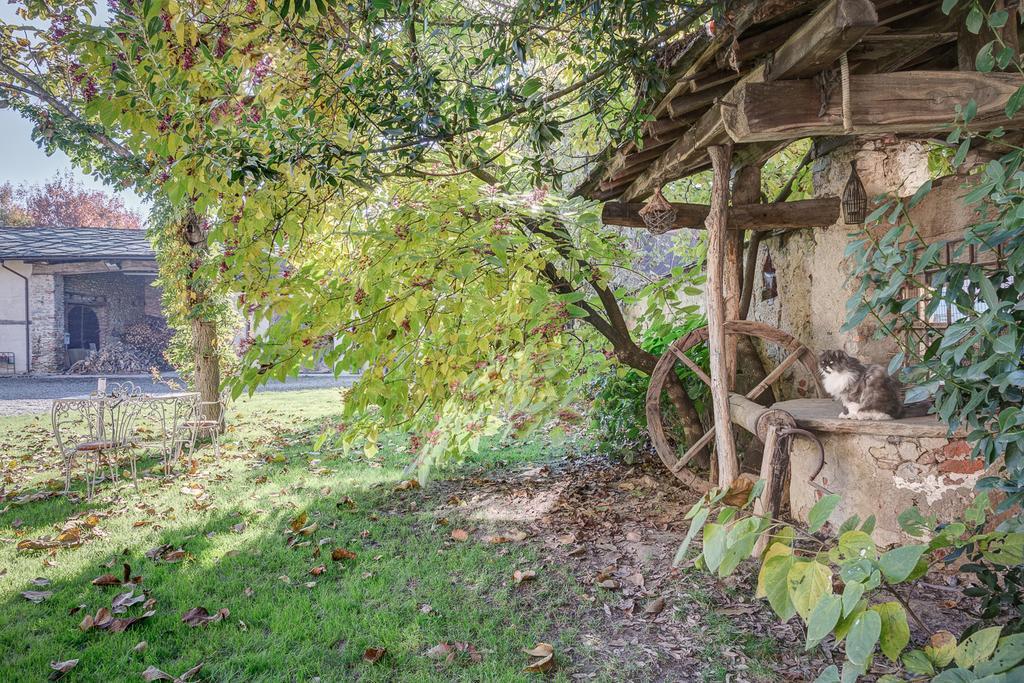
<svg viewBox="0 0 1024 683">
<path fill-rule="evenodd" d="M 175 379 L 173 375 L 167 376 Z M 335 379 L 331 375 L 301 375 L 286 382 L 271 382 L 259 391 L 300 391 L 302 389 L 326 389 L 351 386 L 354 376 Z M 131 381 L 145 393 L 167 393 L 171 391 L 163 384 L 155 384 L 148 376 L 109 377 L 108 382 Z M 50 401 L 67 396 L 84 396 L 96 388 L 95 377 L 2 377 L 0 378 L 0 417 L 45 413 L 50 410 Z"/>
</svg>

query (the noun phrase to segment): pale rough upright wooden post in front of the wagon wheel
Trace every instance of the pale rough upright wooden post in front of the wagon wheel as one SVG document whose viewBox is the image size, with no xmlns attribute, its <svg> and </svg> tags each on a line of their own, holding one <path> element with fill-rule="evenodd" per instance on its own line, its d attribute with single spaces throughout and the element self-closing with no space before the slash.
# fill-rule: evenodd
<svg viewBox="0 0 1024 683">
<path fill-rule="evenodd" d="M 732 165 L 732 145 L 713 145 L 708 148 L 714 168 L 711 211 L 708 213 L 708 347 L 711 359 L 711 396 L 714 404 L 715 447 L 718 452 L 718 483 L 729 487 L 739 476 L 736 445 L 732 440 L 732 422 L 729 419 L 728 367 L 725 344 L 725 251 L 727 242 L 729 170 Z"/>
</svg>

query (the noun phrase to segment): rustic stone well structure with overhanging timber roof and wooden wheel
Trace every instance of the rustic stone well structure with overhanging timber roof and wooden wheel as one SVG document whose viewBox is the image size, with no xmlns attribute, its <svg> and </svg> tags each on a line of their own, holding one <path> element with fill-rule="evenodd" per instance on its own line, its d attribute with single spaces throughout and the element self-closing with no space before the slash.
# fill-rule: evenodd
<svg viewBox="0 0 1024 683">
<path fill-rule="evenodd" d="M 840 212 L 851 162 L 865 205 L 879 195 L 909 198 L 930 179 L 929 153 L 947 144 L 958 112 L 972 112 L 972 131 L 999 129 L 1014 141 L 1022 131 L 1019 117 L 1007 113 L 1020 77 L 976 71 L 979 51 L 993 38 L 1020 45 L 1017 3 L 1012 10 L 1007 3 L 1005 26 L 982 35 L 966 27 L 959 8 L 941 9 L 925 0 L 731 3 L 725 20 L 690 34 L 667 55 L 667 90 L 646 112 L 642 135 L 609 150 L 577 189 L 605 202 L 606 224 L 708 229 L 709 326 L 673 344 L 653 370 L 647 396 L 658 456 L 687 485 L 707 490 L 712 478 L 732 484 L 741 466 L 773 482 L 765 498 L 779 510 L 785 473 L 776 465 L 786 464 L 795 517 L 805 517 L 825 492 L 841 493 L 834 525 L 854 514 L 877 517 L 882 543 L 901 539 L 898 515 L 906 508 L 948 519 L 972 499 L 984 464 L 971 459 L 963 431 L 935 416 L 840 419 L 839 403 L 823 395 L 815 361 L 818 352 L 839 348 L 888 362 L 900 342 L 918 343 L 916 330 L 955 319 L 955 311 L 919 303 L 920 319 L 882 338 L 870 318 L 852 330 L 844 325 L 858 285 L 847 247 L 865 231 L 879 234 L 864 224 L 867 212 L 853 220 Z M 786 201 L 783 190 L 775 201 L 763 198 L 765 162 L 807 139 L 813 197 Z M 976 140 L 973 157 L 956 171 L 967 174 L 999 154 L 999 145 Z M 662 198 L 663 187 L 709 167 L 711 205 L 669 205 Z M 967 258 L 984 267 L 990 254 L 973 246 L 957 251 L 975 220 L 964 200 L 971 182 L 970 175 L 935 178 L 928 197 L 907 206 L 921 240 L 939 242 L 945 262 Z M 928 296 L 927 286 L 919 291 Z M 753 352 L 740 357 L 736 338 L 749 339 Z M 709 373 L 694 374 L 711 388 L 716 429 L 688 450 L 674 449 L 664 433 L 662 388 L 697 343 L 708 344 L 712 358 Z M 757 454 L 763 457 L 738 462 L 734 431 L 770 435 L 755 424 L 769 412 L 741 386 L 745 369 L 779 380 L 766 400 L 774 409 L 769 419 L 790 420 L 816 440 L 794 439 L 787 453 L 777 440 L 770 449 L 766 442 Z M 696 456 L 711 442 L 715 470 L 708 468 L 706 477 Z"/>
</svg>

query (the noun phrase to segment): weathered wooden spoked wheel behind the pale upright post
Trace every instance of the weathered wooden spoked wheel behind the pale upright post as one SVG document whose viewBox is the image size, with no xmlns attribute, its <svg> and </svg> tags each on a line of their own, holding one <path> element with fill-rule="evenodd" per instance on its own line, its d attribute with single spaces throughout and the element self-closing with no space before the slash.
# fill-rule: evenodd
<svg viewBox="0 0 1024 683">
<path fill-rule="evenodd" d="M 809 348 L 801 344 L 794 337 L 770 325 L 754 323 L 752 321 L 728 321 L 723 328 L 727 335 L 755 337 L 771 342 L 788 351 L 782 361 L 773 371 L 768 373 L 756 387 L 746 393 L 748 398 L 751 400 L 757 399 L 769 386 L 775 384 L 790 368 L 798 362 L 811 376 L 815 394 L 818 397 L 824 395 L 824 389 L 821 386 L 821 379 L 818 375 L 817 359 Z M 693 330 L 669 345 L 665 354 L 662 355 L 657 365 L 654 366 L 654 372 L 650 376 L 650 385 L 647 388 L 647 431 L 650 433 L 650 440 L 654 444 L 654 449 L 657 451 L 662 462 L 669 468 L 669 471 L 676 475 L 683 483 L 696 489 L 707 489 L 710 487 L 710 484 L 696 474 L 686 470 L 685 467 L 697 453 L 715 438 L 715 427 L 713 425 L 686 453 L 681 457 L 678 456 L 676 449 L 669 442 L 666 431 L 662 415 L 662 391 L 665 389 L 669 373 L 674 371 L 677 361 L 689 368 L 700 381 L 711 386 L 711 378 L 708 377 L 707 373 L 696 362 L 686 355 L 688 350 L 706 341 L 708 341 L 708 328 L 703 327 Z M 730 387 L 731 389 L 732 387 Z"/>
</svg>

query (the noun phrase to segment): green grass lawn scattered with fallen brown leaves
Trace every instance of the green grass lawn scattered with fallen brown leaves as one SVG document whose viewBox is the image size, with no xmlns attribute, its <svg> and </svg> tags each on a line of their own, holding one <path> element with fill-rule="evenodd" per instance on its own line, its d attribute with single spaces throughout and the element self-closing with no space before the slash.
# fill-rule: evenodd
<svg viewBox="0 0 1024 683">
<path fill-rule="evenodd" d="M 333 390 L 257 394 L 231 408 L 219 463 L 207 447 L 191 473 L 147 477 L 138 495 L 108 482 L 91 503 L 57 497 L 0 508 L 0 681 L 44 680 L 51 660 L 73 658 L 80 661 L 66 680 L 141 680 L 151 666 L 179 676 L 199 664 L 200 678 L 219 681 L 536 678 L 523 672 L 522 648 L 547 640 L 558 651 L 571 642 L 571 630 L 551 621 L 553 607 L 573 597 L 570 577 L 549 568 L 516 586 L 513 571 L 537 559 L 527 545 L 459 543 L 451 538 L 458 520 L 443 525 L 430 510 L 408 509 L 420 492 L 394 490 L 403 462 L 396 446 L 371 461 L 313 453 L 339 404 Z M 31 479 L 39 489 L 58 478 L 46 426 L 42 417 L 0 420 L 8 486 Z M 550 455 L 493 451 L 476 465 Z M 101 518 L 84 545 L 15 550 L 17 541 L 55 536 L 89 512 Z M 303 513 L 316 528 L 289 547 L 290 523 Z M 164 544 L 184 559 L 145 556 Z M 332 561 L 335 548 L 356 557 Z M 123 633 L 83 632 L 87 613 L 128 590 L 92 580 L 120 575 L 123 563 L 142 578 L 136 593 L 155 600 L 155 614 Z M 50 584 L 34 586 L 36 578 Z M 22 596 L 30 590 L 52 597 L 35 604 Z M 230 613 L 190 628 L 181 617 L 198 606 Z M 120 616 L 143 610 L 136 604 Z M 441 642 L 469 643 L 482 660 L 424 655 Z M 386 653 L 371 664 L 368 648 Z"/>
</svg>

